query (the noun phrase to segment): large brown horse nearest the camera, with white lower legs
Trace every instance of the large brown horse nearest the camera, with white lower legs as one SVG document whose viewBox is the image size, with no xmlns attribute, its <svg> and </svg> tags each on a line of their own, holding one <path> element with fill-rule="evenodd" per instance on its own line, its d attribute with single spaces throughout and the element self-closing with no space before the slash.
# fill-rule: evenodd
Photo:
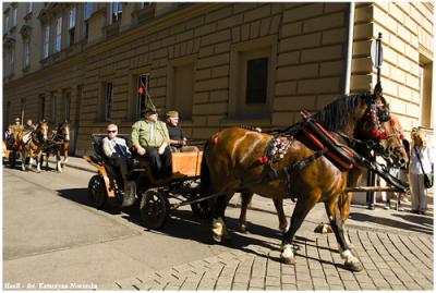
<svg viewBox="0 0 436 293">
<path fill-rule="evenodd" d="M 374 95 L 356 95 L 337 99 L 315 115 L 316 121 L 330 132 L 341 131 L 350 138 L 367 139 L 378 120 L 371 117 L 371 109 L 379 100 Z M 348 170 L 317 150 L 301 131 L 300 124 L 289 130 L 290 143 L 283 158 L 271 166 L 271 173 L 263 160 L 271 135 L 258 132 L 228 129 L 207 141 L 202 162 L 202 190 L 206 194 L 221 194 L 210 203 L 214 223 L 214 240 L 221 242 L 228 237 L 225 210 L 235 192 L 256 193 L 274 199 L 294 198 L 291 225 L 283 234 L 281 258 L 294 264 L 292 241 L 307 212 L 316 203 L 325 203 L 326 211 L 346 258 L 346 267 L 359 271 L 360 260 L 354 257 L 340 229 L 341 218 L 338 200 L 348 184 Z"/>
</svg>

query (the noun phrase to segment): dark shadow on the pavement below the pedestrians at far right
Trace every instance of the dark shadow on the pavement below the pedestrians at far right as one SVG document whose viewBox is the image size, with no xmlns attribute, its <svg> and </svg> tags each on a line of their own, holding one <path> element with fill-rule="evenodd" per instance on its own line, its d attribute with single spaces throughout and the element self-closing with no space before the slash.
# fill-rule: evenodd
<svg viewBox="0 0 436 293">
<path fill-rule="evenodd" d="M 395 220 L 385 217 L 374 217 L 362 212 L 351 212 L 350 218 L 359 222 L 371 222 L 379 225 L 391 227 L 404 231 L 413 231 L 433 235 L 433 218 L 417 215 L 392 213 L 390 217 L 401 218 Z"/>
</svg>

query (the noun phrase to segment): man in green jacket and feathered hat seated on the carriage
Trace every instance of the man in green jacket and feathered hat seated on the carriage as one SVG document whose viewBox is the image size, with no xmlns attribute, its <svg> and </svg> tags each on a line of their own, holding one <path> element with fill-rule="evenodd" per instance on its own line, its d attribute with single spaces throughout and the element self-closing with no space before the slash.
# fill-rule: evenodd
<svg viewBox="0 0 436 293">
<path fill-rule="evenodd" d="M 132 126 L 132 145 L 140 156 L 152 162 L 152 173 L 156 180 L 171 175 L 171 149 L 167 125 L 157 120 L 157 110 L 148 97 L 145 119 Z"/>
</svg>

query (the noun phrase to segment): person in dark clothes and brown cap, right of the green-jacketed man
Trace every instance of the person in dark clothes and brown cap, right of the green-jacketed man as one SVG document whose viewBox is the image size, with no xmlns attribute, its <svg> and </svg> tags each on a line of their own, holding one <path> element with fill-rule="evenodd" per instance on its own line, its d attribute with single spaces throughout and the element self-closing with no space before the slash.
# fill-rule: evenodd
<svg viewBox="0 0 436 293">
<path fill-rule="evenodd" d="M 167 129 L 170 136 L 171 151 L 198 151 L 198 148 L 195 146 L 186 146 L 187 138 L 179 126 L 178 111 L 167 112 Z"/>
</svg>

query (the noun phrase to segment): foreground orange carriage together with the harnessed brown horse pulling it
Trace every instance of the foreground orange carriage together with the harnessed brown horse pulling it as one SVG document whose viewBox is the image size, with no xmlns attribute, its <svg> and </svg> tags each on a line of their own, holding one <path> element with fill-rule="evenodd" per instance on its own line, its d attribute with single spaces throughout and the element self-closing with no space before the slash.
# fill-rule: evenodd
<svg viewBox="0 0 436 293">
<path fill-rule="evenodd" d="M 344 236 L 351 192 L 356 191 L 366 169 L 379 174 L 396 191 L 408 190 L 407 184 L 391 176 L 372 155 L 374 151 L 404 163 L 407 156 L 401 132 L 380 91 L 346 96 L 314 115 L 302 112 L 302 118 L 301 122 L 275 135 L 241 127 L 223 130 L 207 139 L 203 158 L 199 152 L 194 154 L 189 160 L 192 163 L 189 173 L 184 175 L 178 170 L 179 158 L 173 154 L 173 173 L 182 176 L 168 181 L 154 181 L 147 163 L 134 166 L 130 178 L 138 186 L 136 194 L 141 198 L 145 224 L 155 229 L 162 227 L 169 208 L 182 205 L 201 207 L 199 210 L 207 215 L 210 204 L 213 237 L 223 242 L 229 237 L 225 210 L 234 193 L 249 197 L 256 193 L 274 199 L 275 204 L 291 198 L 296 204 L 290 228 L 282 235 L 280 258 L 283 263 L 294 264 L 294 235 L 314 205 L 324 203 L 346 267 L 362 270 L 362 264 Z M 120 207 L 122 198 L 121 192 L 117 192 L 120 190 L 117 174 L 102 155 L 101 138 L 101 135 L 93 136 L 97 156 L 85 157 L 99 171 L 89 182 L 89 194 L 96 207 L 101 207 L 108 198 Z M 183 161 L 182 166 L 185 164 Z M 169 198 L 179 203 L 170 204 Z M 279 205 L 276 208 L 279 218 L 284 217 L 282 206 L 281 211 Z M 195 212 L 196 208 L 193 210 Z"/>
</svg>

